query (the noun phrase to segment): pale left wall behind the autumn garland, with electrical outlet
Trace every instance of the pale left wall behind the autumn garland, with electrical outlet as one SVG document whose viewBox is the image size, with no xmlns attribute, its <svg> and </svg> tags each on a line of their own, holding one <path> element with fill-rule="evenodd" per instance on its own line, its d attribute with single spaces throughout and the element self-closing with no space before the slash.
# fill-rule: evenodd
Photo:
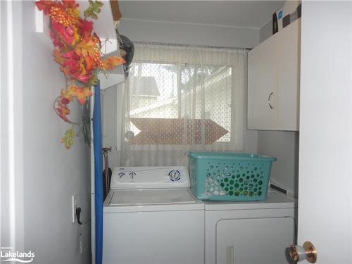
<svg viewBox="0 0 352 264">
<path fill-rule="evenodd" d="M 53 103 L 65 86 L 63 73 L 51 55 L 53 46 L 49 37 L 34 32 L 34 2 L 18 1 L 13 6 L 18 21 L 23 19 L 23 32 L 13 32 L 22 35 L 23 43 L 14 43 L 13 48 L 23 54 L 22 61 L 14 63 L 16 72 L 23 70 L 23 87 L 16 87 L 23 96 L 23 103 L 20 98 L 16 101 L 18 108 L 23 108 L 23 127 L 19 127 L 23 138 L 15 139 L 23 149 L 22 158 L 15 161 L 15 167 L 23 168 L 23 175 L 15 176 L 23 177 L 23 193 L 21 189 L 17 190 L 23 197 L 23 201 L 18 202 L 23 203 L 24 248 L 35 253 L 34 263 L 89 263 L 89 225 L 82 230 L 83 253 L 80 254 L 80 229 L 71 222 L 70 209 L 71 195 L 77 194 L 82 219 L 90 218 L 89 148 L 82 137 L 75 139 L 70 151 L 60 143 L 69 125 L 56 116 Z M 21 75 L 16 78 L 21 79 Z M 70 118 L 78 120 L 79 114 L 77 105 L 72 107 Z M 6 226 L 1 224 L 1 230 L 6 230 Z M 1 246 L 7 246 L 2 242 Z"/>
</svg>

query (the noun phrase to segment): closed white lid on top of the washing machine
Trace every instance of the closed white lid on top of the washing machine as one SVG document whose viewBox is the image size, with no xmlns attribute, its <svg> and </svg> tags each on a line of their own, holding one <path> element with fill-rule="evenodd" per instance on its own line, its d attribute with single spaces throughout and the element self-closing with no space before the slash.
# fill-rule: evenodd
<svg viewBox="0 0 352 264">
<path fill-rule="evenodd" d="M 196 203 L 189 189 L 120 189 L 113 191 L 109 206 L 146 206 Z"/>
</svg>

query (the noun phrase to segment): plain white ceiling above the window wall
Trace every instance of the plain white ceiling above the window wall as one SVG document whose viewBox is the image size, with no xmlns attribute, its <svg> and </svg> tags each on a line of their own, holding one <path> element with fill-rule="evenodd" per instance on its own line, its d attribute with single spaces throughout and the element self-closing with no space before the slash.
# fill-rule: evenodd
<svg viewBox="0 0 352 264">
<path fill-rule="evenodd" d="M 249 27 L 268 23 L 284 1 L 119 1 L 122 20 Z"/>
</svg>

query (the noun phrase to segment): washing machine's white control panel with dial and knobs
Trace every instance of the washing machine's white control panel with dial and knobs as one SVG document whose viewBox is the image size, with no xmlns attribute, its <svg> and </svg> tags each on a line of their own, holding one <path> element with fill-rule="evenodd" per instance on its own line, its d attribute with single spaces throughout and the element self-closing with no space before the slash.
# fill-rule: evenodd
<svg viewBox="0 0 352 264">
<path fill-rule="evenodd" d="M 186 167 L 115 167 L 111 189 L 189 188 Z"/>
</svg>

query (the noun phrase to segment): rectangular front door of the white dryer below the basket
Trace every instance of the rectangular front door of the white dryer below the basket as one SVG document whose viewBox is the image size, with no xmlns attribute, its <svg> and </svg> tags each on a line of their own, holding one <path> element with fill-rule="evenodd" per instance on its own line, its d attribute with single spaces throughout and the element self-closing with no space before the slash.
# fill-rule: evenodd
<svg viewBox="0 0 352 264">
<path fill-rule="evenodd" d="M 289 263 L 294 218 L 220 220 L 216 231 L 216 264 Z"/>
</svg>

